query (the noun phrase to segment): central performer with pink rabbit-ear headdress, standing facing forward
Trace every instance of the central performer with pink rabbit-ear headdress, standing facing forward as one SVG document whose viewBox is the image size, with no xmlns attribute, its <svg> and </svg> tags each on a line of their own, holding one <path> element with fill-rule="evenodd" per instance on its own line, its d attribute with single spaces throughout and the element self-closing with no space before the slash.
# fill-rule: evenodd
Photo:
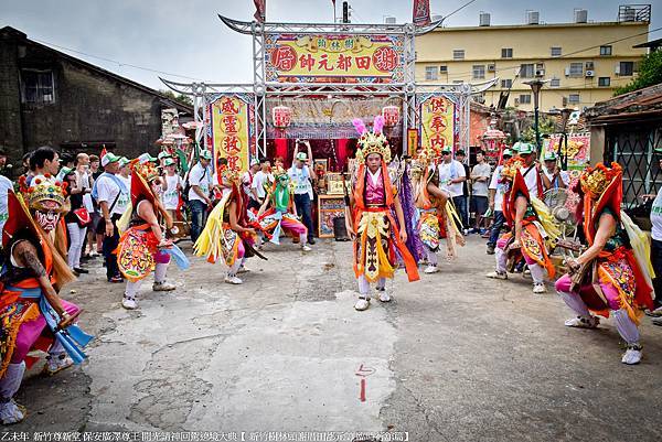
<svg viewBox="0 0 662 442">
<path fill-rule="evenodd" d="M 403 207 L 397 198 L 387 164 L 391 147 L 382 132 L 384 118 L 375 117 L 370 132 L 361 119 L 353 120 L 360 139 L 356 151 L 359 170 L 353 183 L 351 205 L 353 219 L 348 231 L 354 238 L 354 274 L 359 281 L 359 301 L 354 309 L 370 306 L 370 283 L 376 282 L 380 301 L 388 302 L 386 278 L 393 278 L 396 249 L 404 261 L 409 281 L 419 279 L 416 261 L 407 249 L 407 233 Z M 392 215 L 395 211 L 397 223 Z"/>
</svg>

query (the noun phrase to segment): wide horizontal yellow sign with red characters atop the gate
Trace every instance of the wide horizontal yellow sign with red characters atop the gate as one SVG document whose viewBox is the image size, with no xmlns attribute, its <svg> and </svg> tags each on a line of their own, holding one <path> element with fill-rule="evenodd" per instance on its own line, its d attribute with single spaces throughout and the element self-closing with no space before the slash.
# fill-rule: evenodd
<svg viewBox="0 0 662 442">
<path fill-rule="evenodd" d="M 398 35 L 267 35 L 267 80 L 402 82 L 403 42 Z"/>
</svg>

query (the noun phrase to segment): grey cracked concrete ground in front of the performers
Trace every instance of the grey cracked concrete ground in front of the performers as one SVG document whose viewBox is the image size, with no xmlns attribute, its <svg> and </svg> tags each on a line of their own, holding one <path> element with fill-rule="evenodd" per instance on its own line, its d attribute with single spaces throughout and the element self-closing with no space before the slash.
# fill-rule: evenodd
<svg viewBox="0 0 662 442">
<path fill-rule="evenodd" d="M 471 237 L 442 271 L 353 310 L 349 244 L 302 255 L 286 241 L 253 259 L 245 284 L 193 260 L 178 290 L 119 306 L 102 268 L 71 287 L 97 339 L 89 362 L 32 376 L 19 401 L 41 431 L 408 431 L 410 441 L 662 439 L 662 327 L 643 320 L 641 365 L 620 363 L 610 320 L 569 312 L 528 281 L 483 278 L 493 257 Z M 98 266 L 98 263 L 97 263 Z M 36 367 L 39 369 L 39 367 Z M 33 370 L 34 371 L 34 370 Z M 357 376 L 362 375 L 362 376 Z M 361 401 L 361 379 L 365 401 Z"/>
</svg>

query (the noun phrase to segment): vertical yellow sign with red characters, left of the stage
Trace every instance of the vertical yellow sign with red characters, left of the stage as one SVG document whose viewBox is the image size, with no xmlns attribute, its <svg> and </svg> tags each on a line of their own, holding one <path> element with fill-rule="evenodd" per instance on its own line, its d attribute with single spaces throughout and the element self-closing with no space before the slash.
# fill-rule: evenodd
<svg viewBox="0 0 662 442">
<path fill-rule="evenodd" d="M 222 96 L 211 105 L 214 160 L 227 159 L 237 171 L 248 169 L 250 151 L 250 107 L 235 96 Z"/>
</svg>

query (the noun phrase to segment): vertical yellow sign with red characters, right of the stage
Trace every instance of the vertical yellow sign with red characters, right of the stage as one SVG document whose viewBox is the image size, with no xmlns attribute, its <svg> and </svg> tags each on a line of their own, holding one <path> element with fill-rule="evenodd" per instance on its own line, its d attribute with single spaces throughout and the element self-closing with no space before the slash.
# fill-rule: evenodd
<svg viewBox="0 0 662 442">
<path fill-rule="evenodd" d="M 421 144 L 441 150 L 452 148 L 455 133 L 455 104 L 446 97 L 435 96 L 423 103 Z"/>
</svg>

